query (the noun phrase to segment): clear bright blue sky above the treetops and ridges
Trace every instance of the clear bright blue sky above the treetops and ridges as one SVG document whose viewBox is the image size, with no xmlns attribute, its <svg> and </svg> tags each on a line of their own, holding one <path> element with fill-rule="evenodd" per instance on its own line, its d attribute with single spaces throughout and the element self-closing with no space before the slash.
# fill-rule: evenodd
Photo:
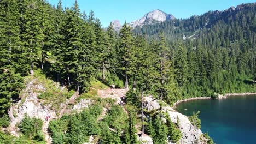
<svg viewBox="0 0 256 144">
<path fill-rule="evenodd" d="M 48 0 L 57 5 L 59 0 Z M 63 7 L 72 7 L 75 0 L 62 0 Z M 103 27 L 107 27 L 112 20 L 119 20 L 121 24 L 141 18 L 149 11 L 160 9 L 176 18 L 188 18 L 201 15 L 209 10 L 224 10 L 241 3 L 252 3 L 255 0 L 78 0 L 81 11 L 88 14 L 94 11 Z"/>
</svg>

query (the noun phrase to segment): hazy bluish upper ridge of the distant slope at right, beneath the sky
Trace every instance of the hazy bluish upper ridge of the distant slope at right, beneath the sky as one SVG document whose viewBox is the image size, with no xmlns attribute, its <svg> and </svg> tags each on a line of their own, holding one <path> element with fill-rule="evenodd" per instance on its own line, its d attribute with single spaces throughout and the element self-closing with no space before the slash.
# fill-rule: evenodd
<svg viewBox="0 0 256 144">
<path fill-rule="evenodd" d="M 247 28 L 246 31 L 255 32 L 255 11 L 256 3 L 241 4 L 237 5 L 236 8 L 230 7 L 223 11 L 208 11 L 203 15 L 191 16 L 188 19 L 175 19 L 136 27 L 134 32 L 136 34 L 146 34 L 148 37 L 157 37 L 158 33 L 163 31 L 167 37 L 172 37 L 171 39 L 183 39 L 183 35 L 187 39 L 199 37 L 203 31 L 204 34 L 209 31 L 217 31 L 217 27 L 223 30 L 228 28 L 226 31 L 230 31 L 234 27 L 240 27 L 242 29 Z M 235 28 L 236 31 L 240 31 L 237 28 Z M 190 37 L 192 35 L 193 37 Z"/>
</svg>

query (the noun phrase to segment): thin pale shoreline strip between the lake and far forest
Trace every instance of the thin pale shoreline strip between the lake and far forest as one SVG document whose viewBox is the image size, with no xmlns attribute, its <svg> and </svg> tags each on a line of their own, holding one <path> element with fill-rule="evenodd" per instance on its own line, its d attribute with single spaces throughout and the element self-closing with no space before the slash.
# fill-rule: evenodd
<svg viewBox="0 0 256 144">
<path fill-rule="evenodd" d="M 215 98 L 215 99 L 225 99 L 229 96 L 242 96 L 242 95 L 256 95 L 256 93 L 227 93 L 224 96 L 218 94 L 218 97 Z M 172 108 L 175 109 L 176 106 L 179 103 L 182 103 L 182 102 L 187 102 L 187 101 L 190 101 L 190 100 L 200 100 L 200 99 L 214 99 L 214 98 L 211 98 L 211 97 L 195 97 L 195 98 L 182 99 L 182 100 L 178 100 L 176 103 L 174 103 Z"/>
</svg>

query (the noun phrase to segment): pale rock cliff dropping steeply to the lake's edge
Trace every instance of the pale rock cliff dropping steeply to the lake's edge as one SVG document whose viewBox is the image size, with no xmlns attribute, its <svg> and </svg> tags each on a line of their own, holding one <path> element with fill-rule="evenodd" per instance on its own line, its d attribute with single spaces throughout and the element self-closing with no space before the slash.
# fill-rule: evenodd
<svg viewBox="0 0 256 144">
<path fill-rule="evenodd" d="M 145 106 L 146 110 L 159 110 L 160 106 L 156 100 L 153 100 L 150 97 L 144 97 L 144 99 L 145 101 L 147 101 L 147 105 Z M 182 132 L 182 139 L 179 140 L 179 143 L 205 143 L 200 139 L 202 138 L 202 131 L 194 127 L 194 125 L 191 124 L 187 116 L 184 116 L 181 113 L 173 110 L 170 106 L 162 107 L 161 111 L 167 112 L 173 123 L 177 123 L 177 118 L 179 118 L 179 129 Z M 172 142 L 168 143 L 173 144 Z"/>
</svg>

